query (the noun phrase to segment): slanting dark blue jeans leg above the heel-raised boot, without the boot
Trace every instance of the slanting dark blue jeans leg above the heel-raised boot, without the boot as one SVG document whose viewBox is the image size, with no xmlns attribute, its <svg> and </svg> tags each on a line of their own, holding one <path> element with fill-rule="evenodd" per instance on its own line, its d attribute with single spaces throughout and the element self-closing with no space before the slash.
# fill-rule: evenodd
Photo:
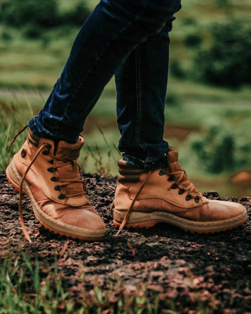
<svg viewBox="0 0 251 314">
<path fill-rule="evenodd" d="M 29 121 L 31 131 L 75 142 L 118 65 L 179 7 L 180 0 L 101 0 L 81 28 L 45 108 Z"/>
</svg>

